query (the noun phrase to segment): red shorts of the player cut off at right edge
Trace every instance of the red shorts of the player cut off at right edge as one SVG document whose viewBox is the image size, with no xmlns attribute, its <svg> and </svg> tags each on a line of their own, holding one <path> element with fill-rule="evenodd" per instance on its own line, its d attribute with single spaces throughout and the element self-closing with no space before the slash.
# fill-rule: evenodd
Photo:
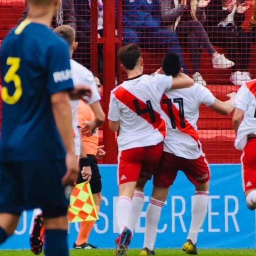
<svg viewBox="0 0 256 256">
<path fill-rule="evenodd" d="M 249 139 L 241 156 L 244 191 L 256 188 L 256 138 Z"/>
</svg>

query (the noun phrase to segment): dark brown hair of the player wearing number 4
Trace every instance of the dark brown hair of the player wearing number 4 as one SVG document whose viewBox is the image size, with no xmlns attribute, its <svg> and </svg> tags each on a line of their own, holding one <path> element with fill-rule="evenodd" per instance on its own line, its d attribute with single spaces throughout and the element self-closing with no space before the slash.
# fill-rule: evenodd
<svg viewBox="0 0 256 256">
<path fill-rule="evenodd" d="M 125 68 L 132 70 L 141 57 L 140 48 L 137 44 L 127 44 L 119 49 L 117 57 Z"/>
</svg>

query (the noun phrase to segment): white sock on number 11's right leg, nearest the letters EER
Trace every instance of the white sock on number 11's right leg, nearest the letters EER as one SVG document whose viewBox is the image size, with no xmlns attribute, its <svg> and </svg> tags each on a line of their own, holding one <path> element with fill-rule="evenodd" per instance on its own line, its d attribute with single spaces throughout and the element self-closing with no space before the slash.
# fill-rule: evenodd
<svg viewBox="0 0 256 256">
<path fill-rule="evenodd" d="M 207 213 L 208 196 L 208 191 L 197 191 L 193 201 L 191 224 L 187 237 L 187 239 L 190 239 L 193 244 L 196 244 L 199 229 L 204 223 Z"/>
</svg>

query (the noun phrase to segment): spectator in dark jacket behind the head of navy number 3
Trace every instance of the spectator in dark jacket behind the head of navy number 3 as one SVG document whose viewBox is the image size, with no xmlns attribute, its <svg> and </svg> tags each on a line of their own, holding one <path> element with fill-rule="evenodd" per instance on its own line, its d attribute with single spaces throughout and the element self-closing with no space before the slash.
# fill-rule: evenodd
<svg viewBox="0 0 256 256">
<path fill-rule="evenodd" d="M 22 13 L 21 21 L 25 20 L 28 16 L 28 3 L 26 2 L 25 9 Z M 76 18 L 74 11 L 74 3 L 73 0 L 60 0 L 59 10 L 56 16 L 53 18 L 52 27 L 58 27 L 60 25 L 68 25 L 74 30 L 76 30 Z"/>
</svg>

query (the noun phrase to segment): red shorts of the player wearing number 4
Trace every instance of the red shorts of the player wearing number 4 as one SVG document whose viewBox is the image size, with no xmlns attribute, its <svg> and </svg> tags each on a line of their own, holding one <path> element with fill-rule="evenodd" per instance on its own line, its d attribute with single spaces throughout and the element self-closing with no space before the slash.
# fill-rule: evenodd
<svg viewBox="0 0 256 256">
<path fill-rule="evenodd" d="M 156 146 L 131 148 L 119 153 L 118 184 L 150 179 L 157 171 L 163 153 L 163 143 Z"/>
</svg>

